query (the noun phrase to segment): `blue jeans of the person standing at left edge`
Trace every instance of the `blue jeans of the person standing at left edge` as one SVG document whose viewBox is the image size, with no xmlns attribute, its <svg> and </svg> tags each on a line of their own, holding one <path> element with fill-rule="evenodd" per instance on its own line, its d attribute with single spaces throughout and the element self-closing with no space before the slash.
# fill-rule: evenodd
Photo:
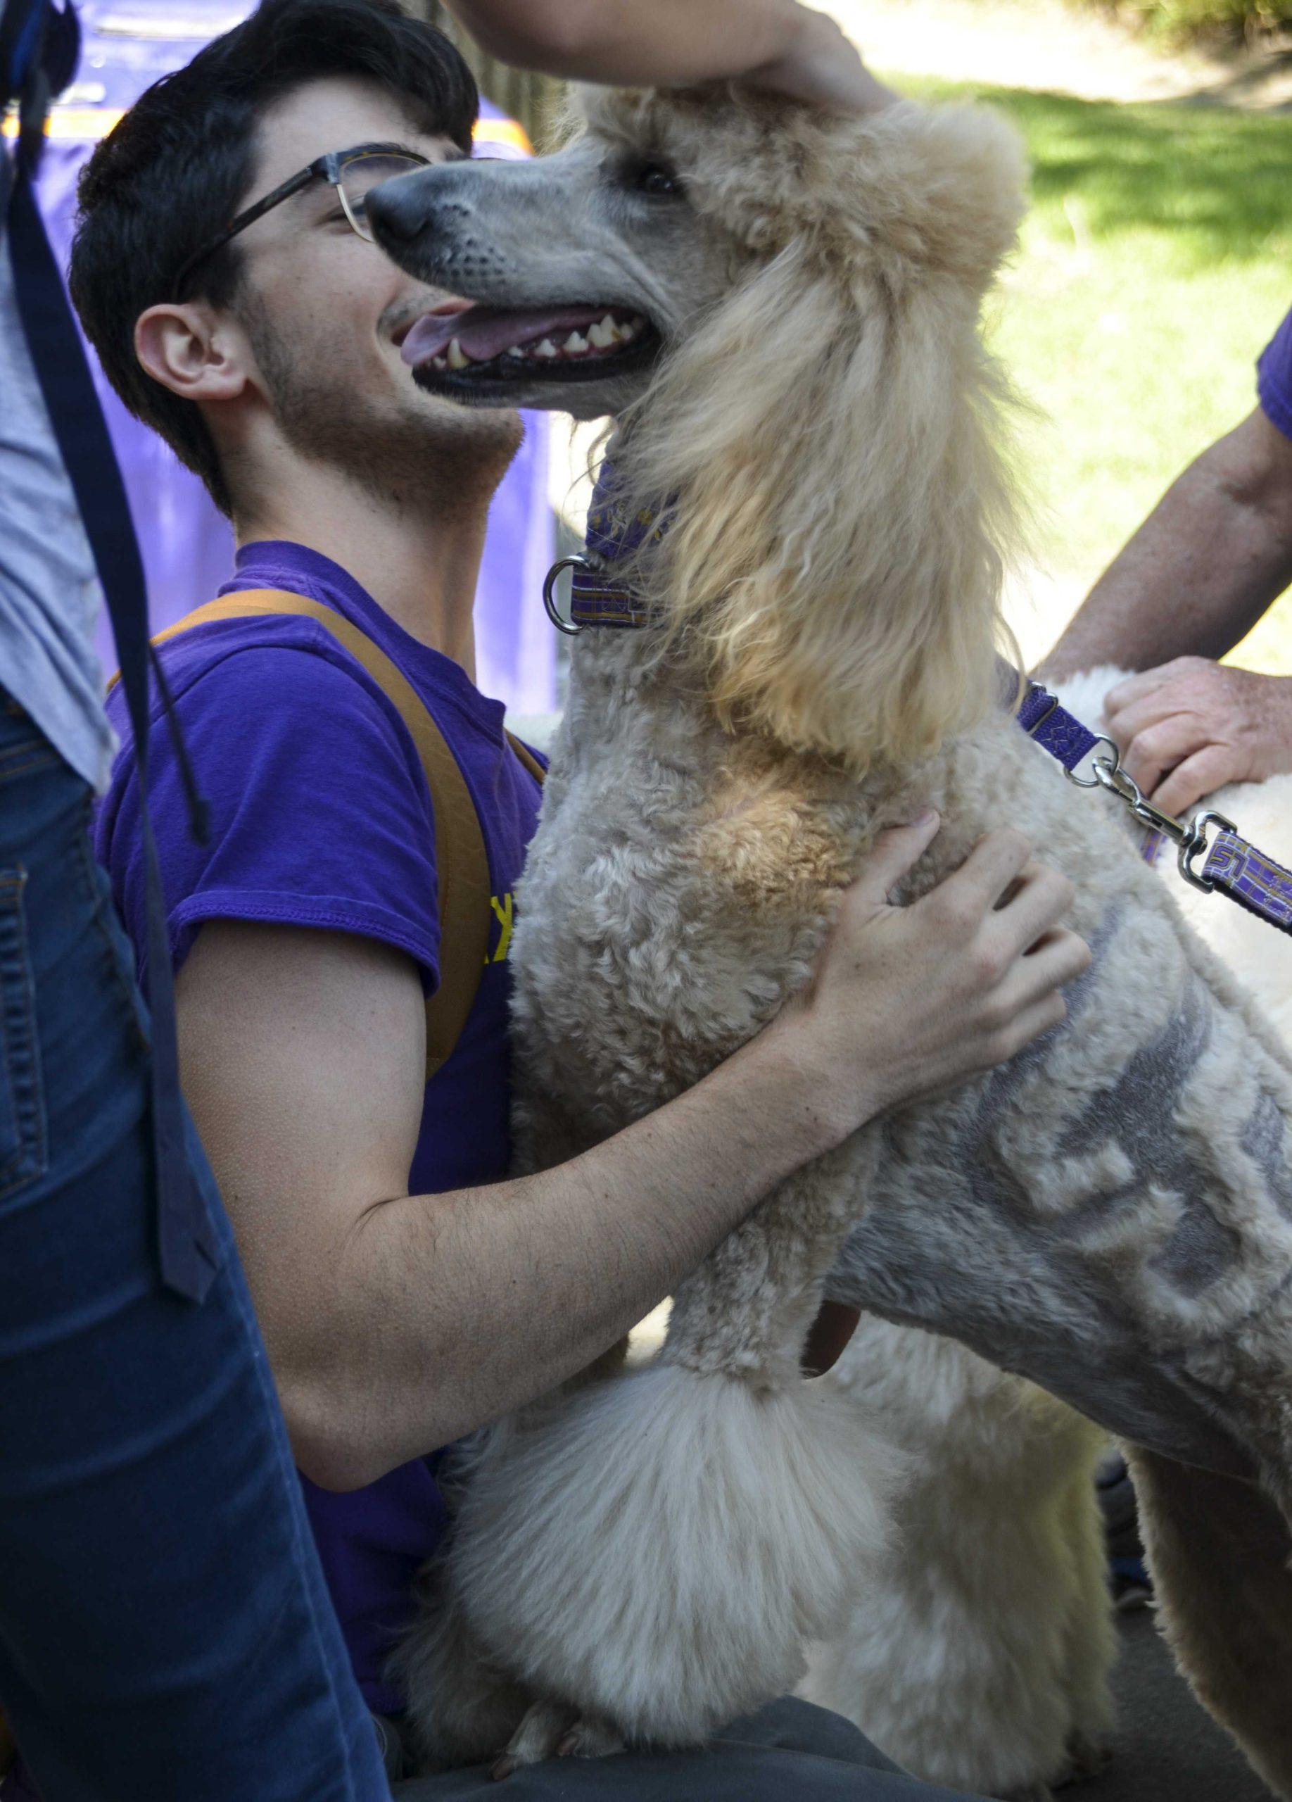
<svg viewBox="0 0 1292 1802">
<path fill-rule="evenodd" d="M 162 1288 L 88 791 L 0 690 L 0 1701 L 45 1802 L 384 1802 L 229 1224 Z"/>
</svg>

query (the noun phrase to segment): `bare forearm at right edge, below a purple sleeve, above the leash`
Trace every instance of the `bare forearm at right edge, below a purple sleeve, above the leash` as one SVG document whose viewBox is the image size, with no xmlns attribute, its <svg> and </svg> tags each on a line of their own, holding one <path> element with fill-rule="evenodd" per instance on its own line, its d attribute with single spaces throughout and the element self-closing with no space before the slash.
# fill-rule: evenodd
<svg viewBox="0 0 1292 1802">
<path fill-rule="evenodd" d="M 1292 580 L 1292 450 L 1254 414 L 1168 488 L 1040 667 L 1220 658 Z"/>
</svg>

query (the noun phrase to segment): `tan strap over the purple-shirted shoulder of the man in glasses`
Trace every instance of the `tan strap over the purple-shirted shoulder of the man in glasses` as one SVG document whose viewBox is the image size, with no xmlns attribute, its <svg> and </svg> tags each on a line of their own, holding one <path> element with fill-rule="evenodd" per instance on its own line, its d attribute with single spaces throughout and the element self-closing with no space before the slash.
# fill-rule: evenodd
<svg viewBox="0 0 1292 1802">
<path fill-rule="evenodd" d="M 241 595 L 223 595 L 157 633 L 155 645 L 166 643 L 193 625 L 211 620 L 245 620 L 256 614 L 292 613 L 314 620 L 342 645 L 371 676 L 409 730 L 431 791 L 436 829 L 436 874 L 440 887 L 440 986 L 427 1000 L 427 1081 L 440 1070 L 467 1024 L 479 977 L 488 957 L 490 881 L 485 836 L 476 804 L 458 759 L 449 750 L 440 726 L 402 670 L 366 633 L 351 625 L 335 607 L 279 587 L 254 587 Z M 117 678 L 114 676 L 112 681 Z M 108 683 L 112 687 L 112 683 Z M 510 733 L 508 733 L 510 737 Z M 542 780 L 542 766 L 515 739 L 512 748 L 524 768 Z"/>
</svg>

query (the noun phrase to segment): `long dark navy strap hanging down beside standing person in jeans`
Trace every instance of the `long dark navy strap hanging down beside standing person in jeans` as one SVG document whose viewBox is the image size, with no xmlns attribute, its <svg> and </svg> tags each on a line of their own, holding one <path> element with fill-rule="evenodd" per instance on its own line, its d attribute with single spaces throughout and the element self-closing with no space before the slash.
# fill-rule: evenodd
<svg viewBox="0 0 1292 1802">
<path fill-rule="evenodd" d="M 72 14 L 54 14 L 56 20 L 67 16 Z M 166 903 L 148 813 L 150 643 L 144 566 L 99 396 L 36 205 L 32 159 L 22 146 L 7 223 L 18 315 L 108 602 L 139 757 L 148 899 L 148 1007 L 153 1033 L 151 1119 L 162 1281 L 177 1294 L 202 1301 L 220 1269 L 220 1252 L 186 1146 Z"/>
</svg>

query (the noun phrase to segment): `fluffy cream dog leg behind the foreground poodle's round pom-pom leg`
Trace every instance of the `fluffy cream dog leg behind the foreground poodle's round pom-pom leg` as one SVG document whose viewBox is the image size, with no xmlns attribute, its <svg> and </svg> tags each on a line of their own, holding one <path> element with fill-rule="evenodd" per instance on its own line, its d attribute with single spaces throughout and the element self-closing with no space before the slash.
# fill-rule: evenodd
<svg viewBox="0 0 1292 1802">
<path fill-rule="evenodd" d="M 1085 1719 L 1070 1683 L 1081 1611 L 1108 1616 L 1101 1434 L 964 1346 L 872 1317 L 836 1380 L 870 1398 L 910 1469 L 899 1528 L 804 1694 L 926 1782 L 1047 1795 Z"/>
</svg>

